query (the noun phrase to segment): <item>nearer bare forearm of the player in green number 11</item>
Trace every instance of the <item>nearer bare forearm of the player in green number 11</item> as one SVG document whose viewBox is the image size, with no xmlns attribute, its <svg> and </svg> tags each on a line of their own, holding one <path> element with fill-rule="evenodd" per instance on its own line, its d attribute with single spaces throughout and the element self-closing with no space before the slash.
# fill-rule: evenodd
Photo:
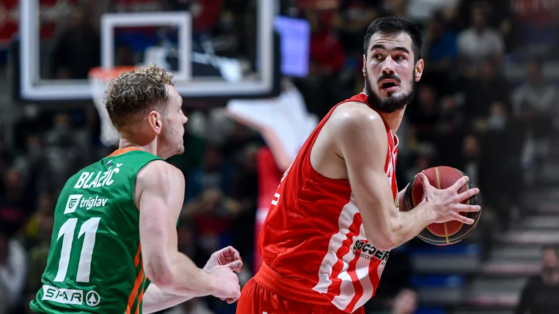
<svg viewBox="0 0 559 314">
<path fill-rule="evenodd" d="M 196 267 L 187 255 L 175 251 L 169 263 L 165 278 L 154 281 L 161 290 L 184 297 L 203 297 L 215 291 L 215 278 Z"/>
</svg>

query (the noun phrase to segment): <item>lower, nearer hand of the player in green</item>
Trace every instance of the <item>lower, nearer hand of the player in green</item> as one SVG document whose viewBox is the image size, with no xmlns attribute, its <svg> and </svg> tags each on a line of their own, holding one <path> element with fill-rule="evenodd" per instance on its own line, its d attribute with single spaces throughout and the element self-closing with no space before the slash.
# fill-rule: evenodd
<svg viewBox="0 0 559 314">
<path fill-rule="evenodd" d="M 239 262 L 240 261 L 231 262 L 208 271 L 210 276 L 214 278 L 215 283 L 217 283 L 212 295 L 219 299 L 226 300 L 228 304 L 234 303 L 240 297 L 239 278 L 237 274 L 233 272 L 233 269 L 238 268 Z"/>
</svg>

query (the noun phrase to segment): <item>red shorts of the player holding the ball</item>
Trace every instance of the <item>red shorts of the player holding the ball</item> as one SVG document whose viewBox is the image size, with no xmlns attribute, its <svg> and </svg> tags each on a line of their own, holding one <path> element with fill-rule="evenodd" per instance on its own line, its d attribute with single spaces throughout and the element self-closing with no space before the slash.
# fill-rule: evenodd
<svg viewBox="0 0 559 314">
<path fill-rule="evenodd" d="M 318 292 L 300 291 L 300 286 L 270 269 L 266 263 L 242 288 L 237 314 L 342 314 L 345 313 Z M 354 314 L 365 314 L 359 308 Z"/>
</svg>

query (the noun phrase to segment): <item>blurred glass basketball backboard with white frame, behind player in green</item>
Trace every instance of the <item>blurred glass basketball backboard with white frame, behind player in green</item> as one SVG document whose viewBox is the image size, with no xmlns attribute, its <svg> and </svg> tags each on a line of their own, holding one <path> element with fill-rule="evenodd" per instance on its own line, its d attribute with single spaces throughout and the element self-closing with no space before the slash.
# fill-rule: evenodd
<svg viewBox="0 0 559 314">
<path fill-rule="evenodd" d="M 172 70 L 185 98 L 270 93 L 274 1 L 239 7 L 247 2 L 20 1 L 17 96 L 34 102 L 90 100 L 84 74 L 90 68 L 146 63 Z"/>
</svg>

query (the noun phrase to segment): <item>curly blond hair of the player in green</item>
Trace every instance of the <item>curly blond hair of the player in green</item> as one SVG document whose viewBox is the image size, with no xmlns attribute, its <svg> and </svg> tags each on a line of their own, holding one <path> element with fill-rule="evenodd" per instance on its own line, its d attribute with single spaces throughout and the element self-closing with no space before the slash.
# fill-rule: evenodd
<svg viewBox="0 0 559 314">
<path fill-rule="evenodd" d="M 173 74 L 154 64 L 119 75 L 110 82 L 105 98 L 112 125 L 118 130 L 128 126 L 139 113 L 164 113 L 169 98 L 166 85 L 173 84 Z"/>
</svg>

